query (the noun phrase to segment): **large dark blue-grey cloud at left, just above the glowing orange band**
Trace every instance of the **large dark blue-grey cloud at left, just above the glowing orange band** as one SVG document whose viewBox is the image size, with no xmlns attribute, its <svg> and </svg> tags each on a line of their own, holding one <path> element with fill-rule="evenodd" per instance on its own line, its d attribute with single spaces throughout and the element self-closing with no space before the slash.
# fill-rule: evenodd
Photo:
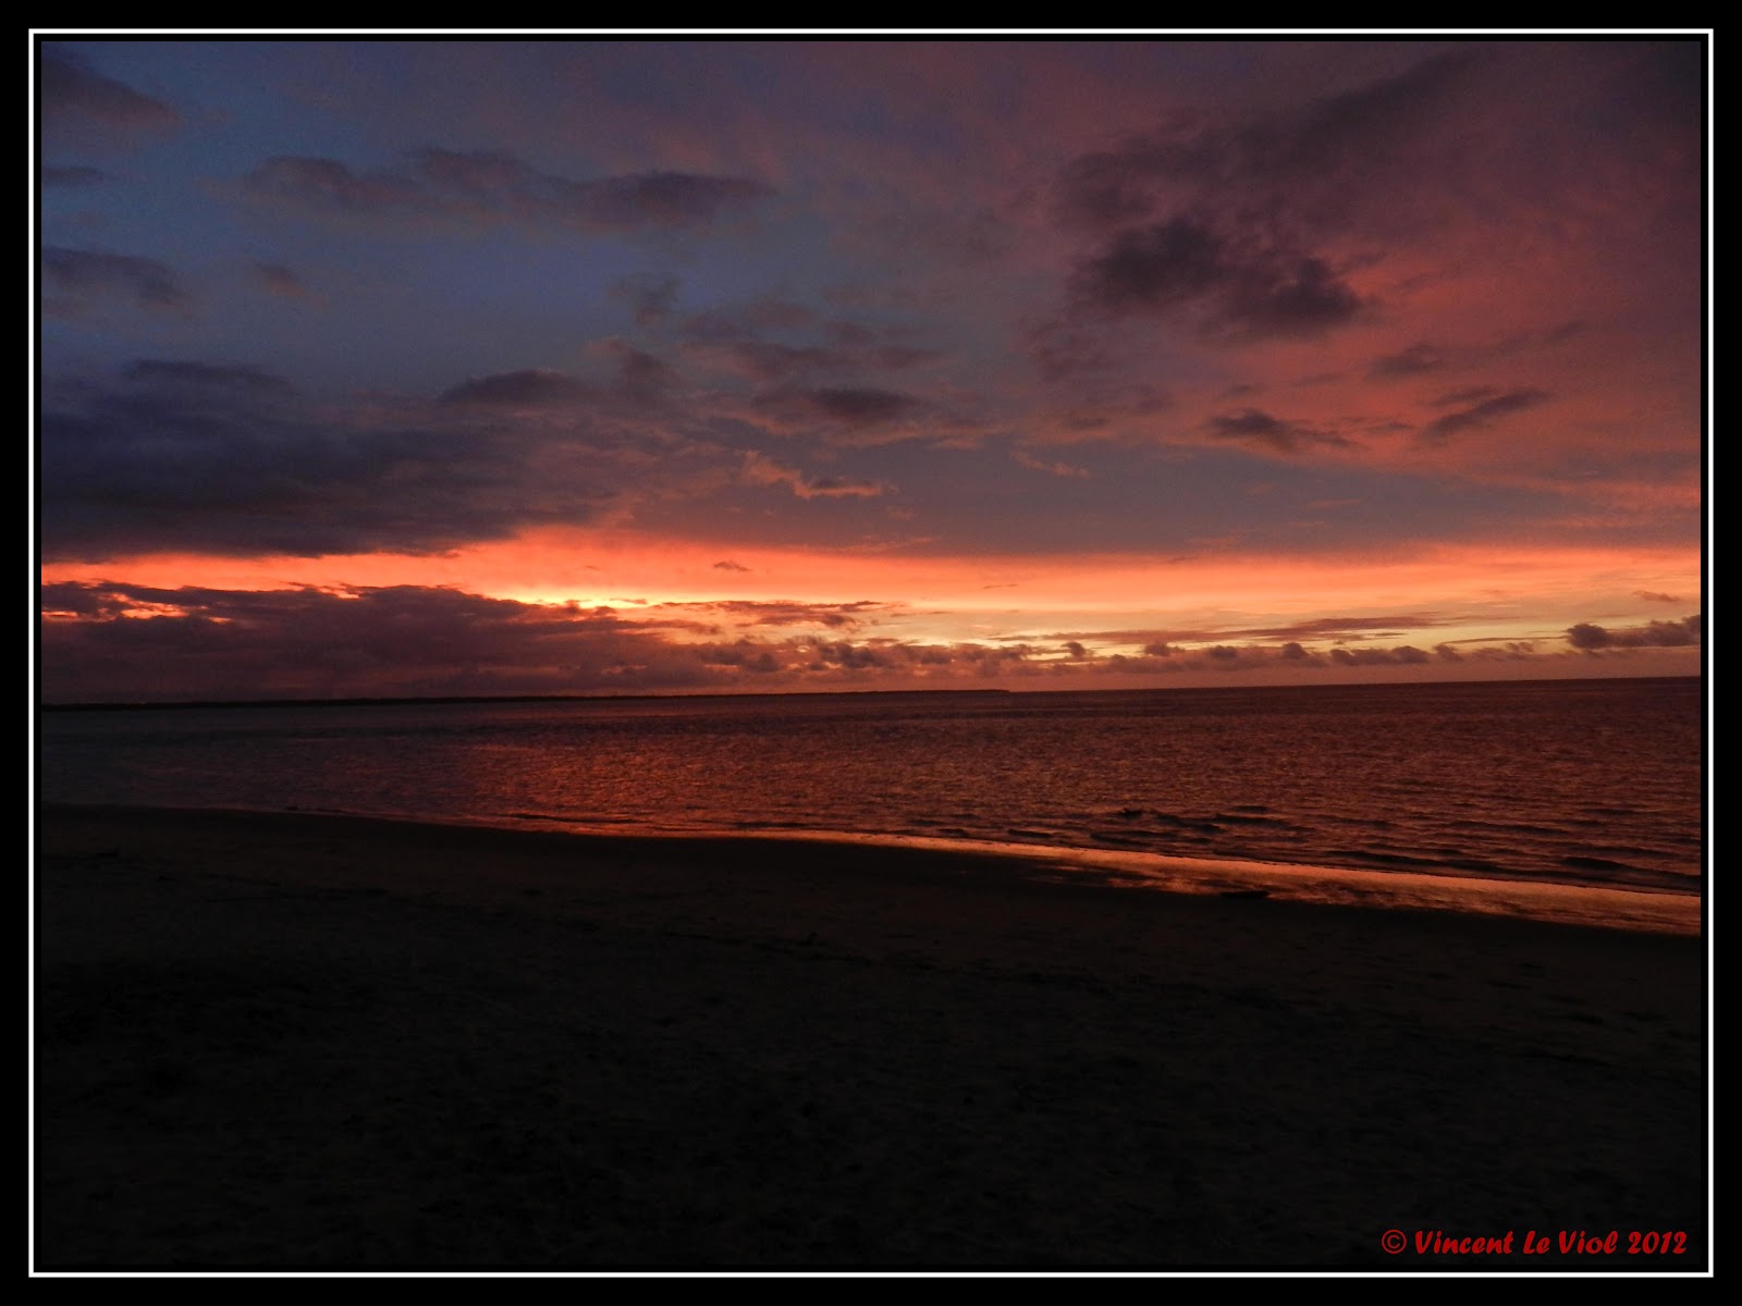
<svg viewBox="0 0 1742 1306">
<path fill-rule="evenodd" d="M 430 552 L 587 521 L 610 498 L 584 474 L 542 477 L 516 425 L 442 409 L 347 413 L 256 367 L 186 360 L 51 387 L 44 557 Z"/>
</svg>

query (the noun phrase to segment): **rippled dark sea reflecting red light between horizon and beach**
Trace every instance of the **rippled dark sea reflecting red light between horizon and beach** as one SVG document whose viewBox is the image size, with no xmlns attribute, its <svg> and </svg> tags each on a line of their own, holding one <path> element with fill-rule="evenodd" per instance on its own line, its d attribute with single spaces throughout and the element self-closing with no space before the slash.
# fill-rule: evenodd
<svg viewBox="0 0 1742 1306">
<path fill-rule="evenodd" d="M 38 794 L 1016 845 L 1049 878 L 1697 928 L 1704 721 L 1695 679 L 56 710 Z"/>
</svg>

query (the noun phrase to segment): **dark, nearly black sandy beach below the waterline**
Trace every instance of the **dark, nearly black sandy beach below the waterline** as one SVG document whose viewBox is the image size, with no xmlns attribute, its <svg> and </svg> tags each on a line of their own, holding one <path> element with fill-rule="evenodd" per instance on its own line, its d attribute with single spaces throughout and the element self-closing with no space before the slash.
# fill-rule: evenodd
<svg viewBox="0 0 1742 1306">
<path fill-rule="evenodd" d="M 37 853 L 38 1271 L 1709 1268 L 1698 939 L 312 815 Z"/>
</svg>

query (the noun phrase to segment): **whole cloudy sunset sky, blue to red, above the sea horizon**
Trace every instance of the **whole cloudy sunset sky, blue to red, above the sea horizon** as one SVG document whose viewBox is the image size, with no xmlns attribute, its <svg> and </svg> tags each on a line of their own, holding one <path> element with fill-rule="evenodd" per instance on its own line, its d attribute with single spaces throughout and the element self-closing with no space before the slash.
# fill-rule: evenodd
<svg viewBox="0 0 1742 1306">
<path fill-rule="evenodd" d="M 38 40 L 49 703 L 1700 669 L 1698 35 Z"/>
</svg>

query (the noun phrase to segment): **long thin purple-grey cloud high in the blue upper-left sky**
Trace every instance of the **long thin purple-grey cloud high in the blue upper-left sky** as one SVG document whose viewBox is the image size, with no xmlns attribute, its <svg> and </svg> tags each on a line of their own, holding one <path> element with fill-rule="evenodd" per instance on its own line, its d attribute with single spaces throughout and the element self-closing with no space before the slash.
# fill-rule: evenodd
<svg viewBox="0 0 1742 1306">
<path fill-rule="evenodd" d="M 279 155 L 244 192 L 310 212 L 573 226 L 589 232 L 706 226 L 773 193 L 751 178 L 636 172 L 575 181 L 503 151 L 420 150 L 404 171 L 354 172 L 336 158 Z"/>
</svg>

